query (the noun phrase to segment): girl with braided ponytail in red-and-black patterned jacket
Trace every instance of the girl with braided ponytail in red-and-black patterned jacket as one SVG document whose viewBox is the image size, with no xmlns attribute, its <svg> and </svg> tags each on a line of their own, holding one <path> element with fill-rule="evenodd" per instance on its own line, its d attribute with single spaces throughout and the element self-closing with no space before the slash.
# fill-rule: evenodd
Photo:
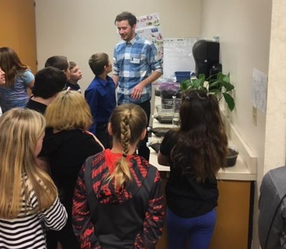
<svg viewBox="0 0 286 249">
<path fill-rule="evenodd" d="M 72 212 L 82 249 L 153 249 L 160 238 L 164 210 L 159 172 L 134 154 L 146 123 L 141 107 L 116 107 L 108 125 L 112 149 L 85 162 Z"/>
</svg>

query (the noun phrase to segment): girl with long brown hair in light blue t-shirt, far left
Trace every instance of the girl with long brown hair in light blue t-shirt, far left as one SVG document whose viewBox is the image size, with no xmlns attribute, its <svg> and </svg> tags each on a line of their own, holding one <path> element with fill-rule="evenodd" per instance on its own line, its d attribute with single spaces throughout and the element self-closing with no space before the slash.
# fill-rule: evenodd
<svg viewBox="0 0 286 249">
<path fill-rule="evenodd" d="M 6 83 L 0 87 L 3 112 L 14 107 L 25 107 L 29 101 L 27 89 L 31 89 L 35 82 L 33 73 L 9 47 L 0 48 L 0 65 L 6 73 Z"/>
</svg>

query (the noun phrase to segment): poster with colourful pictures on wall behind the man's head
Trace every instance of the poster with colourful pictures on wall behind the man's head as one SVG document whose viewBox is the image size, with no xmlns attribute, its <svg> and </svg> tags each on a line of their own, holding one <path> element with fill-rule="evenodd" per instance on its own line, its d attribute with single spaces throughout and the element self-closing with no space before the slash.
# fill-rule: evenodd
<svg viewBox="0 0 286 249">
<path fill-rule="evenodd" d="M 137 17 L 136 33 L 154 43 L 160 58 L 163 60 L 163 36 L 158 13 Z"/>
</svg>

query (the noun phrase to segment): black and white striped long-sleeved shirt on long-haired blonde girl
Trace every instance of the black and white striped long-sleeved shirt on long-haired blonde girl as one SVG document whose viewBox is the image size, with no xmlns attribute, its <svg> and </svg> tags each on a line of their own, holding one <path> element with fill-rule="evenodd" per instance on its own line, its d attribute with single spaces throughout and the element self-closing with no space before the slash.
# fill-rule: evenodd
<svg viewBox="0 0 286 249">
<path fill-rule="evenodd" d="M 24 196 L 24 195 L 23 195 Z M 17 218 L 0 218 L 0 249 L 46 249 L 46 230 L 60 230 L 67 221 L 67 213 L 58 197 L 48 210 L 40 213 L 37 196 L 33 190 L 29 194 L 28 205 L 22 201 Z"/>
</svg>

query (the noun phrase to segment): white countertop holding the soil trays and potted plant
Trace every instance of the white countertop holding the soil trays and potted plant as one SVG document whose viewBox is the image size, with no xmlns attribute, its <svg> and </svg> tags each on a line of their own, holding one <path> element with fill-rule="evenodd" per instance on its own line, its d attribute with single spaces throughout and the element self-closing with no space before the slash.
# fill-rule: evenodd
<svg viewBox="0 0 286 249">
<path fill-rule="evenodd" d="M 155 97 L 155 105 L 160 104 L 160 97 Z M 154 111 L 156 112 L 156 110 Z M 154 113 L 156 114 L 156 113 Z M 156 127 L 167 127 L 172 128 L 172 124 L 161 124 L 156 119 L 153 119 L 153 128 Z M 149 138 L 149 142 L 156 142 L 156 141 L 162 141 L 162 138 L 156 137 L 154 134 L 152 134 L 152 137 Z M 229 144 L 232 145 L 232 141 L 229 141 Z M 157 162 L 157 153 L 150 148 L 150 159 L 149 163 L 154 165 L 159 171 L 162 172 L 169 172 L 170 167 L 159 165 Z M 247 165 L 243 162 L 242 158 L 238 155 L 237 163 L 234 167 L 228 167 L 225 168 L 225 170 L 220 170 L 218 173 L 218 179 L 222 180 L 256 180 L 256 174 L 252 174 Z"/>
</svg>

